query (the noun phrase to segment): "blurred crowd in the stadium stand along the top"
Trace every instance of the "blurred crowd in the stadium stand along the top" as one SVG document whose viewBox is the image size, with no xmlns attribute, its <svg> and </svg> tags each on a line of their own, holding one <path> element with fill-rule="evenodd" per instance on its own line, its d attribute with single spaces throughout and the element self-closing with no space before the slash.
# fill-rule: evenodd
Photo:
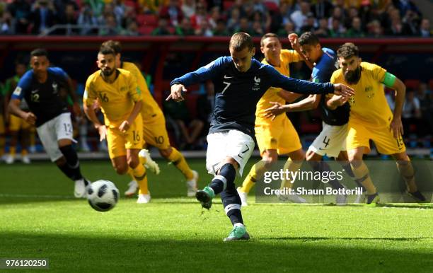
<svg viewBox="0 0 433 273">
<path fill-rule="evenodd" d="M 0 27 L 1 35 L 433 35 L 410 0 L 2 0 Z"/>
</svg>

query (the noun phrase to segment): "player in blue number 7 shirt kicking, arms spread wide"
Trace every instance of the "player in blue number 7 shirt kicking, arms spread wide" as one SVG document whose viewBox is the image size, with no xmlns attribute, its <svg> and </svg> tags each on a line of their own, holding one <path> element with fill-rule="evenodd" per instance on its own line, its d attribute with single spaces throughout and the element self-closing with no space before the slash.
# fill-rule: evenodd
<svg viewBox="0 0 433 273">
<path fill-rule="evenodd" d="M 215 108 L 207 136 L 207 171 L 214 176 L 209 186 L 196 193 L 202 207 L 210 209 L 212 199 L 221 194 L 226 215 L 233 229 L 224 240 L 248 240 L 243 225 L 241 198 L 234 184 L 254 149 L 255 105 L 271 86 L 296 93 L 354 94 L 342 84 L 311 83 L 279 74 L 272 66 L 253 59 L 255 47 L 247 33 L 235 33 L 230 40 L 231 57 L 219 57 L 207 66 L 174 79 L 167 100 L 183 100 L 185 86 L 212 79 Z"/>
</svg>

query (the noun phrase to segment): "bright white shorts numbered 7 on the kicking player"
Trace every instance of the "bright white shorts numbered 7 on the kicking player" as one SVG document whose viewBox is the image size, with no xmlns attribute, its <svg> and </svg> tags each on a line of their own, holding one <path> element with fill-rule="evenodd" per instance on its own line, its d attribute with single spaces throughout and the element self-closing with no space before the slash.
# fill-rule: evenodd
<svg viewBox="0 0 433 273">
<path fill-rule="evenodd" d="M 254 140 L 238 130 L 216 132 L 207 135 L 206 168 L 207 172 L 217 174 L 226 157 L 233 158 L 238 164 L 238 175 L 254 150 Z"/>
</svg>

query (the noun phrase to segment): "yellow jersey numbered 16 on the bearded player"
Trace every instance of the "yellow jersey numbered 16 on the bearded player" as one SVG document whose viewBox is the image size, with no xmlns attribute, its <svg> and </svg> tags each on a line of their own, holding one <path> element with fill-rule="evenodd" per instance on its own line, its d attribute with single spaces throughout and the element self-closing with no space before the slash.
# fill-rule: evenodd
<svg viewBox="0 0 433 273">
<path fill-rule="evenodd" d="M 105 117 L 105 125 L 118 127 L 127 119 L 134 108 L 134 103 L 142 100 L 142 92 L 135 77 L 125 69 L 117 69 L 117 79 L 107 83 L 100 75 L 100 70 L 91 74 L 86 81 L 83 103 L 93 105 L 98 100 Z"/>
</svg>

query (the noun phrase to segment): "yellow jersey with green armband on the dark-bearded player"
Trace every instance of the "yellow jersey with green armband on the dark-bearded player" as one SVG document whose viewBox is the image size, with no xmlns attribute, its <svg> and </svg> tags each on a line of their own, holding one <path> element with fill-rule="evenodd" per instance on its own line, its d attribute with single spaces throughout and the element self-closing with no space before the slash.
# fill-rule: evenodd
<svg viewBox="0 0 433 273">
<path fill-rule="evenodd" d="M 369 126 L 388 127 L 393 113 L 388 106 L 383 89 L 386 70 L 376 64 L 361 63 L 361 79 L 357 84 L 345 81 L 342 69 L 334 71 L 331 83 L 343 83 L 354 88 L 355 94 L 350 98 L 350 120 L 364 122 Z"/>
</svg>

